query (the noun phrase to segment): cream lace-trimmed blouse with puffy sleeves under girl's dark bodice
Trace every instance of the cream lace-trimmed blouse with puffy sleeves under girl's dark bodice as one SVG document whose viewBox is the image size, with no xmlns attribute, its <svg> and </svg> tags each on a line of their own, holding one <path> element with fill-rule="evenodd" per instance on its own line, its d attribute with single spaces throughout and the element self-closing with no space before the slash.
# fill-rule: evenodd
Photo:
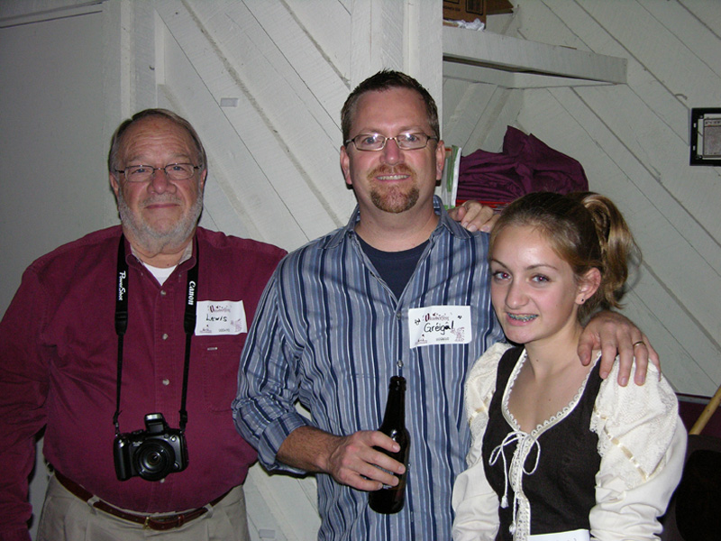
<svg viewBox="0 0 721 541">
<path fill-rule="evenodd" d="M 456 541 L 493 541 L 496 538 L 500 502 L 486 480 L 481 445 L 488 424 L 488 406 L 496 391 L 498 362 L 509 347 L 508 344 L 495 344 L 488 349 L 474 364 L 466 381 L 466 415 L 472 443 L 467 456 L 469 468 L 459 475 L 453 488 L 452 504 L 456 513 L 453 539 Z M 513 386 L 524 359 L 525 352 L 511 373 L 507 389 Z M 678 415 L 676 395 L 665 379 L 659 380 L 659 372 L 653 365 L 649 366 L 643 386 L 636 386 L 632 381 L 621 387 L 616 383 L 617 375 L 618 362 L 615 362 L 614 369 L 598 390 L 589 426 L 589 430 L 598 435 L 601 457 L 596 475 L 596 505 L 589 515 L 589 536 L 603 541 L 658 539 L 661 525 L 657 517 L 665 511 L 680 481 L 686 453 L 686 430 Z M 524 476 L 533 472 L 527 471 L 528 466 L 525 472 L 514 471 L 514 468 L 523 467 L 526 456 L 534 445 L 538 445 L 535 438 L 561 422 L 575 406 L 585 384 L 584 381 L 566 408 L 537 426 L 531 434 L 519 429 L 507 409 L 509 393 L 504 390 L 504 415 L 512 426 L 515 424 L 515 430 L 509 436 L 518 445 L 512 459 L 503 454 L 503 448 L 494 454 L 497 460 L 508 460 L 512 464 L 507 483 L 516 498 L 506 503 L 514 506 L 516 540 L 534 538 L 530 535 L 532 505 L 523 491 Z"/>
</svg>

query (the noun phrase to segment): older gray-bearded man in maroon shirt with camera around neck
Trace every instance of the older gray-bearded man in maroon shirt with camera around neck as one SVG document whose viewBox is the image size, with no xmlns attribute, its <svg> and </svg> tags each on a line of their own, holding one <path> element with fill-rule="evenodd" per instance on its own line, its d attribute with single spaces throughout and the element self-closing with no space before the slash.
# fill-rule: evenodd
<svg viewBox="0 0 721 541">
<path fill-rule="evenodd" d="M 230 404 L 285 252 L 197 227 L 205 150 L 170 111 L 123 122 L 108 167 L 121 225 L 33 262 L 0 323 L 0 540 L 30 539 L 43 427 L 38 539 L 249 539 Z"/>
</svg>

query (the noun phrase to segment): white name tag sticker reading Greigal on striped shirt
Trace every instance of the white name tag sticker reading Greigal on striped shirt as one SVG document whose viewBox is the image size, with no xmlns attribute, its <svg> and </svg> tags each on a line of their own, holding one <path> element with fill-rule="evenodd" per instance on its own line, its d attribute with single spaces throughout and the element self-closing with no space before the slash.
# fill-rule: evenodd
<svg viewBox="0 0 721 541">
<path fill-rule="evenodd" d="M 468 344 L 472 338 L 470 307 L 423 307 L 408 310 L 411 347 Z"/>
</svg>

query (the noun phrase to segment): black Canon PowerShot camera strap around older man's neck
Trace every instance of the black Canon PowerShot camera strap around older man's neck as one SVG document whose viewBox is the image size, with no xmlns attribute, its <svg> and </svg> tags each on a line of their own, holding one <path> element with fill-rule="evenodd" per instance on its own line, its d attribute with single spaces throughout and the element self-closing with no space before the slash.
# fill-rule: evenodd
<svg viewBox="0 0 721 541">
<path fill-rule="evenodd" d="M 186 309 L 183 316 L 183 329 L 186 333 L 186 355 L 183 367 L 183 394 L 180 399 L 180 430 L 185 431 L 187 424 L 187 376 L 190 369 L 190 341 L 196 332 L 196 298 L 197 298 L 197 268 L 200 266 L 198 249 L 196 246 L 196 264 L 187 271 Z M 113 424 L 115 434 L 120 434 L 120 387 L 123 379 L 123 338 L 128 328 L 128 261 L 125 259 L 125 235 L 120 235 L 118 245 L 117 264 L 117 294 L 115 296 L 115 334 L 118 335 L 118 375 L 115 394 L 115 413 Z"/>
</svg>

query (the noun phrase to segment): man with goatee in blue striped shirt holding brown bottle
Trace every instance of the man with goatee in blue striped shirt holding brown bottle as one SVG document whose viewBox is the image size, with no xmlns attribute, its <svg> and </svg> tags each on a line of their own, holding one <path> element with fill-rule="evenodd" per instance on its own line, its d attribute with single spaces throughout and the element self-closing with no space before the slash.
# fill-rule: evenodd
<svg viewBox="0 0 721 541">
<path fill-rule="evenodd" d="M 384 70 L 360 83 L 343 105 L 342 133 L 341 168 L 358 206 L 348 225 L 278 265 L 243 350 L 233 415 L 267 468 L 320 473 L 319 539 L 450 539 L 452 485 L 470 445 L 463 381 L 503 339 L 488 235 L 454 223 L 434 197 L 443 142 L 434 99 L 414 78 Z M 607 372 L 616 344 L 629 362 L 643 335 L 606 314 L 587 327 L 582 359 L 601 328 Z M 395 486 L 406 471 L 382 452 L 398 445 L 375 430 L 396 375 L 407 381 L 406 503 L 381 515 L 366 491 Z"/>
</svg>

